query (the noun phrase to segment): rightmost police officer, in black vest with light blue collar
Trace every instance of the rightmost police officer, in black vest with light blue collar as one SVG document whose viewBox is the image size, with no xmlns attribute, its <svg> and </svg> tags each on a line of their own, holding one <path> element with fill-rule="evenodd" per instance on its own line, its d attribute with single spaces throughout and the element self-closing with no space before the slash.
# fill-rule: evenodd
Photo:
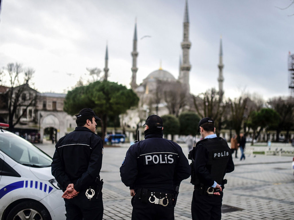
<svg viewBox="0 0 294 220">
<path fill-rule="evenodd" d="M 202 140 L 191 151 L 192 175 L 194 185 L 192 198 L 193 220 L 220 220 L 223 189 L 226 173 L 234 170 L 230 148 L 223 138 L 218 138 L 214 121 L 203 118 L 199 122 L 198 132 Z M 190 157 L 189 157 L 190 158 Z"/>
</svg>

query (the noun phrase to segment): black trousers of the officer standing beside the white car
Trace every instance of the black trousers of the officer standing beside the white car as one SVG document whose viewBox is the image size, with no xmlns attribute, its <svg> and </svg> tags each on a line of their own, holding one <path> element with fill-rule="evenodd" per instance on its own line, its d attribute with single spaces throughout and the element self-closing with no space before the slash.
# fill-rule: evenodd
<svg viewBox="0 0 294 220">
<path fill-rule="evenodd" d="M 86 197 L 86 190 L 81 190 L 77 197 L 64 199 L 66 220 L 102 220 L 103 202 L 102 192 L 96 199 L 96 194 L 91 200 Z"/>
</svg>

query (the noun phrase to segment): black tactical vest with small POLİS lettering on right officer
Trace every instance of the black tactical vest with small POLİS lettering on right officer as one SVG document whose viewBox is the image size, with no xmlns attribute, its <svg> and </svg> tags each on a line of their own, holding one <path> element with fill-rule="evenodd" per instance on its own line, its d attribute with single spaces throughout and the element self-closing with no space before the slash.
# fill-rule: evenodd
<svg viewBox="0 0 294 220">
<path fill-rule="evenodd" d="M 228 147 L 227 142 L 223 138 L 206 138 L 201 141 L 198 141 L 195 148 L 193 148 L 192 152 L 192 174 L 191 174 L 191 183 L 193 185 L 200 185 L 201 182 L 197 175 L 195 174 L 195 170 L 193 168 L 193 163 L 195 159 L 195 151 L 199 144 L 202 144 L 208 151 L 208 161 L 206 164 L 206 169 L 211 174 L 213 180 L 215 180 L 218 184 L 222 184 L 223 177 L 225 176 L 225 170 L 227 167 L 227 163 L 229 161 L 231 151 Z M 204 156 L 204 155 L 203 155 Z M 190 159 L 190 158 L 189 158 Z"/>
</svg>

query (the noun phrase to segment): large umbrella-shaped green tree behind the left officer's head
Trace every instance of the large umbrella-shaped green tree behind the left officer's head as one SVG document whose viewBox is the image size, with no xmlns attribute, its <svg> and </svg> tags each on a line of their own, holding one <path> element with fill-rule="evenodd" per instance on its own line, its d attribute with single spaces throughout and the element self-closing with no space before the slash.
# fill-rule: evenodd
<svg viewBox="0 0 294 220">
<path fill-rule="evenodd" d="M 64 111 L 77 114 L 83 108 L 91 108 L 101 118 L 102 139 L 104 140 L 109 117 L 125 113 L 138 104 L 139 98 L 131 89 L 116 82 L 96 81 L 76 87 L 66 94 Z"/>
</svg>

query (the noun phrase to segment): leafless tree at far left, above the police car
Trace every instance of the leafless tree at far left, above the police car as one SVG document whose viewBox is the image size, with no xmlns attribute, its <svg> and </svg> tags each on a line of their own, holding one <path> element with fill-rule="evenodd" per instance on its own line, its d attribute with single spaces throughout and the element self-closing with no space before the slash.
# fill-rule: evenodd
<svg viewBox="0 0 294 220">
<path fill-rule="evenodd" d="M 35 70 L 28 68 L 25 71 L 22 69 L 22 65 L 19 63 L 9 63 L 6 68 L 9 75 L 10 88 L 7 92 L 6 102 L 8 103 L 8 123 L 9 128 L 19 123 L 20 119 L 26 114 L 29 106 L 35 106 L 37 101 L 37 91 L 29 87 Z M 20 82 L 19 78 L 24 73 L 23 82 Z M 20 107 L 23 111 L 20 111 Z"/>
</svg>

